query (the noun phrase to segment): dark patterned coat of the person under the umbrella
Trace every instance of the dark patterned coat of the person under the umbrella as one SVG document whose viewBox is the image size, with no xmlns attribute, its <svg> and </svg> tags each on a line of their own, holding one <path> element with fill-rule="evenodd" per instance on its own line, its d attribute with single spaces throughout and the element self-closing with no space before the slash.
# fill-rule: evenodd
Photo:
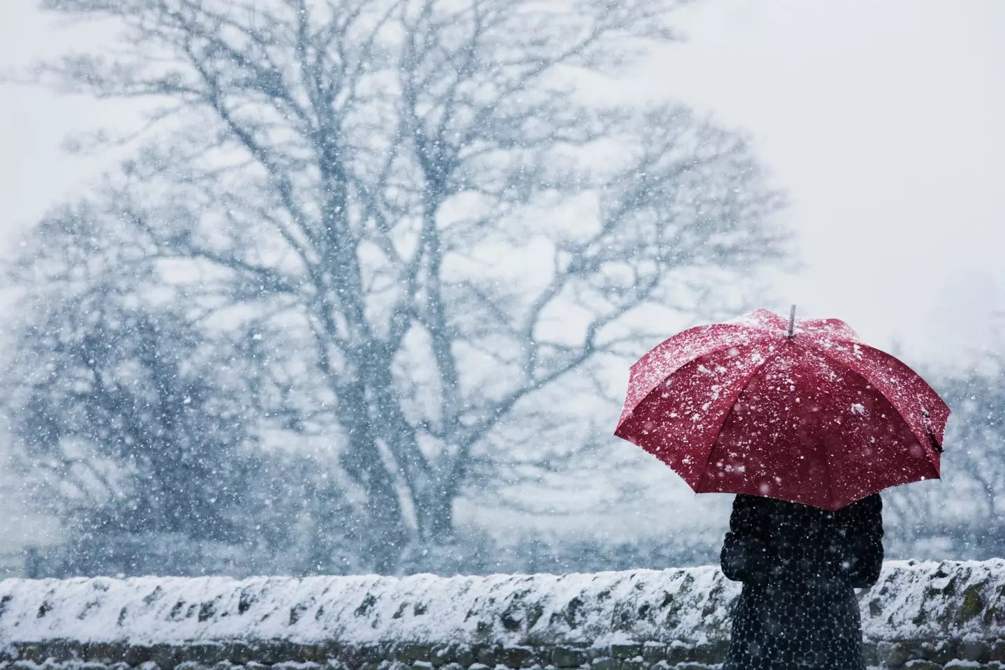
<svg viewBox="0 0 1005 670">
<path fill-rule="evenodd" d="M 878 495 L 828 512 L 738 495 L 723 573 L 743 582 L 723 670 L 862 670 L 855 588 L 882 564 Z"/>
</svg>

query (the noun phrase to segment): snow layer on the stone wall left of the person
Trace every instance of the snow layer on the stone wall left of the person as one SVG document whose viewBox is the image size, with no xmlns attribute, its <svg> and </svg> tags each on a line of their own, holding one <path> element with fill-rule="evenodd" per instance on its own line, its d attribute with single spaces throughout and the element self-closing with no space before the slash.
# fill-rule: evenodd
<svg viewBox="0 0 1005 670">
<path fill-rule="evenodd" d="M 721 628 L 737 586 L 712 568 L 447 579 L 7 580 L 0 583 L 0 638 L 134 644 L 700 639 Z"/>
</svg>

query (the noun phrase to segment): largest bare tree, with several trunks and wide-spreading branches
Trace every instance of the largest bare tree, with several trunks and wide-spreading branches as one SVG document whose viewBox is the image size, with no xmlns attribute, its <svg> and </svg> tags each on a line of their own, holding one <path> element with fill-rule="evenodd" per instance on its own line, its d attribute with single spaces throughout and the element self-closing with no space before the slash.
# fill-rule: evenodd
<svg viewBox="0 0 1005 670">
<path fill-rule="evenodd" d="M 637 353 L 647 309 L 709 310 L 786 256 L 741 137 L 578 101 L 673 6 L 45 0 L 124 32 L 39 78 L 154 103 L 77 215 L 257 343 L 262 415 L 330 437 L 389 571 L 449 539 L 487 438 L 546 399 L 561 424 L 560 385 Z"/>
</svg>

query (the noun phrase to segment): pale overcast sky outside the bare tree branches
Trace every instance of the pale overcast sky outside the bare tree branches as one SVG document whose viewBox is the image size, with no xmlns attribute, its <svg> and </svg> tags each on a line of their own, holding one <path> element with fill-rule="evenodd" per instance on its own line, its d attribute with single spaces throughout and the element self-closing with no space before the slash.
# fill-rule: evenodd
<svg viewBox="0 0 1005 670">
<path fill-rule="evenodd" d="M 34 5 L 4 0 L 0 66 L 99 34 Z M 803 263 L 766 306 L 843 318 L 913 365 L 969 360 L 1005 333 L 1005 2 L 706 0 L 679 25 L 687 41 L 620 92 L 680 99 L 753 138 L 788 191 Z M 63 138 L 135 113 L 0 96 L 2 248 L 97 177 L 102 161 L 65 155 Z"/>
</svg>

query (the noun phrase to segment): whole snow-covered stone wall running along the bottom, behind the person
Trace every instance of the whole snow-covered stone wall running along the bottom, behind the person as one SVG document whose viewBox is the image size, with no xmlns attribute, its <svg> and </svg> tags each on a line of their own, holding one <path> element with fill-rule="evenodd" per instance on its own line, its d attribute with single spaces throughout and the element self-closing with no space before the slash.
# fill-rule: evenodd
<svg viewBox="0 0 1005 670">
<path fill-rule="evenodd" d="M 722 661 L 739 591 L 714 568 L 448 579 L 6 580 L 0 664 L 694 669 Z M 872 665 L 1005 662 L 1005 561 L 888 563 L 859 600 Z"/>
</svg>

